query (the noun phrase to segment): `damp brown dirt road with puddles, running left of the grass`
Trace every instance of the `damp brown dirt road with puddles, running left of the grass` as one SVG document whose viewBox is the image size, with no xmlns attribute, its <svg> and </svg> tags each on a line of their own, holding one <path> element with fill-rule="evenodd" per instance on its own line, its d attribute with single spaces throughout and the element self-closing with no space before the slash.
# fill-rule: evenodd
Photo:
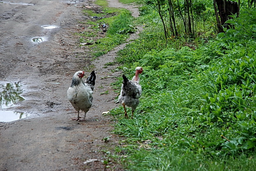
<svg viewBox="0 0 256 171">
<path fill-rule="evenodd" d="M 108 1 L 112 6 L 134 10 L 133 15 L 138 15 L 133 6 Z M 111 151 L 119 139 L 109 132 L 111 118 L 101 113 L 118 106 L 114 103 L 117 94 L 110 83 L 120 72 L 111 72 L 116 66 L 103 67 L 114 60 L 115 52 L 125 44 L 93 62 L 78 46 L 78 37 L 73 33 L 82 29 L 78 21 L 86 20 L 82 9 L 93 6 L 93 2 L 1 2 L 0 81 L 20 81 L 26 100 L 8 110 L 22 111 L 31 117 L 0 123 L 0 170 L 107 170 L 100 162 L 107 160 L 102 150 Z M 46 25 L 57 28 L 42 27 Z M 42 38 L 41 43 L 32 41 L 37 37 Z M 97 75 L 93 106 L 85 122 L 71 120 L 76 114 L 66 99 L 72 76 L 78 70 L 85 70 L 87 74 L 95 70 Z M 109 94 L 101 94 L 105 91 Z M 110 141 L 102 141 L 107 136 L 111 136 Z M 89 159 L 99 161 L 83 163 Z M 116 163 L 110 167 L 122 170 Z"/>
</svg>

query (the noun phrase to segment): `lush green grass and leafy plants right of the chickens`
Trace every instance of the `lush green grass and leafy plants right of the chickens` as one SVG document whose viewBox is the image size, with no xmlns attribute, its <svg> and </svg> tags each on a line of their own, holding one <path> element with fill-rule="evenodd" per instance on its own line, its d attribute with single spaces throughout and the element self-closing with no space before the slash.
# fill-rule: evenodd
<svg viewBox="0 0 256 171">
<path fill-rule="evenodd" d="M 114 133 L 125 137 L 118 158 L 128 170 L 255 169 L 255 18 L 255 10 L 243 11 L 230 21 L 233 29 L 191 42 L 194 48 L 161 39 L 152 22 L 119 51 L 129 78 L 136 66 L 144 69 L 134 119 L 124 119 L 122 107 L 111 111 Z"/>
</svg>

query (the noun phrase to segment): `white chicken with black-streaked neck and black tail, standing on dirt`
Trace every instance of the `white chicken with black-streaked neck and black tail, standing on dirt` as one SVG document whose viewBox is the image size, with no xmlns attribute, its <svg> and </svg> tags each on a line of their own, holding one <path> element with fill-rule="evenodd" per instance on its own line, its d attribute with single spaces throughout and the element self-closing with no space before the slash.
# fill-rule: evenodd
<svg viewBox="0 0 256 171">
<path fill-rule="evenodd" d="M 67 90 L 67 99 L 78 112 L 77 118 L 72 120 L 85 121 L 87 111 L 92 106 L 92 94 L 95 85 L 96 75 L 92 71 L 90 76 L 83 82 L 82 77 L 84 76 L 83 71 L 78 71 L 74 74 L 71 82 L 71 86 Z M 84 111 L 83 119 L 80 120 L 79 111 Z"/>
</svg>

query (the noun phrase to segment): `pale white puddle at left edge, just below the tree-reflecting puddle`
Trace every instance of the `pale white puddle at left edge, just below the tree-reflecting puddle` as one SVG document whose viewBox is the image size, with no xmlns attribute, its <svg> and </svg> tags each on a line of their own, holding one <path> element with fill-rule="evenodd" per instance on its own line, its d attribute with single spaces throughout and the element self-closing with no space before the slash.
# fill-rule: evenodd
<svg viewBox="0 0 256 171">
<path fill-rule="evenodd" d="M 24 112 L 19 111 L 0 111 L 0 122 L 11 122 L 29 116 Z"/>
</svg>

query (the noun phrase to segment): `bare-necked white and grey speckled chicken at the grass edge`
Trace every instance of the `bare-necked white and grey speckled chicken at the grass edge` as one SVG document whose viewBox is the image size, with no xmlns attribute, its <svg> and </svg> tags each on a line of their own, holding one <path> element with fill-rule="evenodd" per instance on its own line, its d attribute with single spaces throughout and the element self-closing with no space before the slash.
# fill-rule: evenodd
<svg viewBox="0 0 256 171">
<path fill-rule="evenodd" d="M 125 105 L 132 108 L 132 118 L 134 111 L 136 110 L 139 104 L 139 97 L 141 95 L 141 86 L 139 85 L 139 74 L 143 71 L 142 67 L 136 68 L 135 76 L 132 80 L 127 79 L 123 75 L 123 84 L 121 87 L 121 92 L 118 97 L 119 102 L 123 105 L 124 108 L 124 117 L 128 118 Z"/>
</svg>

